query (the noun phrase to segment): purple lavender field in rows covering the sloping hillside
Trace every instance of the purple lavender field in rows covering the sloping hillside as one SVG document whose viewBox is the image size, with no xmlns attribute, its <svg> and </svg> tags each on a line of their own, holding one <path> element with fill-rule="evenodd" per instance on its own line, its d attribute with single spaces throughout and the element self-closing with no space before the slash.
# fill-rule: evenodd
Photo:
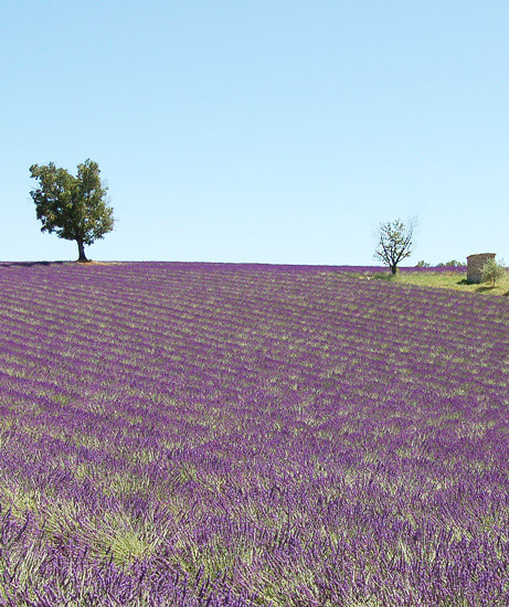
<svg viewBox="0 0 509 607">
<path fill-rule="evenodd" d="M 0 294 L 0 605 L 509 604 L 507 298 L 179 263 Z"/>
</svg>

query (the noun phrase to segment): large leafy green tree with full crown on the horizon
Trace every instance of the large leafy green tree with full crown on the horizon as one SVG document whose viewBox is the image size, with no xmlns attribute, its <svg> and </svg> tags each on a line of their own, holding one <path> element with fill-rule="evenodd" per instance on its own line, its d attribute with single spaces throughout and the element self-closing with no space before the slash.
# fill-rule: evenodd
<svg viewBox="0 0 509 607">
<path fill-rule="evenodd" d="M 97 162 L 88 159 L 78 164 L 76 177 L 53 162 L 32 164 L 30 172 L 40 185 L 30 195 L 42 222 L 41 232 L 76 241 L 78 262 L 87 262 L 85 245 L 103 238 L 114 226 L 113 209 L 106 201 L 108 189 Z"/>
</svg>

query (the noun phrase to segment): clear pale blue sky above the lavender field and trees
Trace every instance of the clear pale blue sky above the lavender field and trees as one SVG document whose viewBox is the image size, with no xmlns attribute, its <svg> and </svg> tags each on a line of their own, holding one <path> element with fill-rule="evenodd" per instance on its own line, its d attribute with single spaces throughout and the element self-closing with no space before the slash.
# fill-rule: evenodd
<svg viewBox="0 0 509 607">
<path fill-rule="evenodd" d="M 509 262 L 509 3 L 18 0 L 0 11 L 0 259 L 41 234 L 29 167 L 99 163 L 93 259 Z"/>
</svg>

